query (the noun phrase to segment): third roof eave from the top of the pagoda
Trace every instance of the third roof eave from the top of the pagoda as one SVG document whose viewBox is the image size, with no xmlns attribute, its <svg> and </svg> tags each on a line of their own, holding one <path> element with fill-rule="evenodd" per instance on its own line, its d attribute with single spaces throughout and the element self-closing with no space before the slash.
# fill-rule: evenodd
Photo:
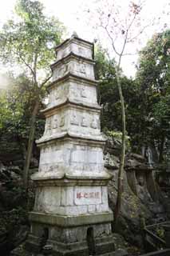
<svg viewBox="0 0 170 256">
<path fill-rule="evenodd" d="M 97 83 L 99 83 L 99 81 L 97 81 L 97 80 L 93 80 L 93 79 L 89 79 L 89 78 L 84 78 L 84 77 L 78 76 L 76 74 L 72 74 L 71 72 L 68 72 L 62 78 L 58 78 L 57 80 L 51 82 L 48 86 L 46 86 L 46 88 L 50 89 L 53 86 L 58 86 L 61 82 L 65 82 L 65 81 L 71 80 L 71 79 L 75 79 L 77 81 L 85 82 L 89 86 L 90 85 L 97 86 Z"/>
</svg>

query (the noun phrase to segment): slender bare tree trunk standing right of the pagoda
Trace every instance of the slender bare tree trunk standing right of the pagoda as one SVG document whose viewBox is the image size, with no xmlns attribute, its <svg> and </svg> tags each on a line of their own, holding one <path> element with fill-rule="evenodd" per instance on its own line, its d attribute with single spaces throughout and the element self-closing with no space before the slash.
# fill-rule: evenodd
<svg viewBox="0 0 170 256">
<path fill-rule="evenodd" d="M 119 73 L 119 66 L 116 69 L 117 75 L 117 87 L 119 90 L 119 96 L 121 99 L 121 122 L 122 122 L 122 137 L 121 137 L 121 162 L 118 171 L 118 180 L 117 180 L 117 203 L 114 210 L 114 230 L 117 230 L 117 218 L 121 212 L 121 194 L 123 189 L 123 171 L 125 165 L 125 102 L 121 89 L 121 80 Z"/>
</svg>

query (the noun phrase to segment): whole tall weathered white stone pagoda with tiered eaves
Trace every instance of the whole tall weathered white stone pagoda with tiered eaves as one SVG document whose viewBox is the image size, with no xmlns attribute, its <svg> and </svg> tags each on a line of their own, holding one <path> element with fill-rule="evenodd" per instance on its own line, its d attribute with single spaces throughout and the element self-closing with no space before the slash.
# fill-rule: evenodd
<svg viewBox="0 0 170 256">
<path fill-rule="evenodd" d="M 56 54 L 26 248 L 51 245 L 57 256 L 107 254 L 113 251 L 111 177 L 103 161 L 93 43 L 73 35 Z"/>
</svg>

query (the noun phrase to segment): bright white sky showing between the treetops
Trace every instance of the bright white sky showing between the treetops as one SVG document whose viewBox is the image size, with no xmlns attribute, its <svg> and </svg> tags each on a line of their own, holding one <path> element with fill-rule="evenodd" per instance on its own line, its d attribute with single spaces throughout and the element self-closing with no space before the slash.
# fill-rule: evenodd
<svg viewBox="0 0 170 256">
<path fill-rule="evenodd" d="M 14 10 L 14 5 L 16 2 L 17 0 L 6 0 L 1 3 L 0 26 L 2 26 L 7 19 L 11 18 L 13 15 L 12 10 Z M 85 10 L 88 8 L 92 10 L 97 4 L 97 0 L 40 0 L 40 2 L 42 2 L 45 6 L 46 14 L 57 16 L 57 18 L 64 23 L 68 29 L 68 37 L 73 33 L 73 31 L 76 31 L 79 37 L 93 41 L 96 35 L 93 31 L 93 25 L 87 25 L 88 21 Z M 125 10 L 127 2 L 131 1 L 119 1 L 120 6 L 122 6 L 122 12 Z M 140 46 L 134 46 L 138 49 L 143 47 L 148 39 L 152 37 L 152 34 L 154 34 L 156 31 L 162 30 L 164 26 L 166 26 L 166 29 L 169 28 L 170 0 L 145 0 L 143 13 L 143 18 L 146 20 L 153 20 L 153 18 L 156 18 L 156 24 L 150 28 L 148 27 L 148 29 L 145 31 L 140 42 Z M 169 15 L 167 15 L 168 13 Z M 122 68 L 126 75 L 133 76 L 135 74 L 136 59 L 136 55 L 127 56 L 124 58 Z"/>
</svg>

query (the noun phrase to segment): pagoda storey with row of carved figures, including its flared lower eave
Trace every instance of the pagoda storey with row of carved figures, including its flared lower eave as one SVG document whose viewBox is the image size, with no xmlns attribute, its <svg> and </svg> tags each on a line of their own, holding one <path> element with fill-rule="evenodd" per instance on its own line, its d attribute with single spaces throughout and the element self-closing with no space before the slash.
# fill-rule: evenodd
<svg viewBox="0 0 170 256">
<path fill-rule="evenodd" d="M 93 109 L 68 102 L 61 107 L 47 109 L 45 132 L 37 142 L 69 136 L 104 141 L 100 127 L 100 108 Z"/>
</svg>

